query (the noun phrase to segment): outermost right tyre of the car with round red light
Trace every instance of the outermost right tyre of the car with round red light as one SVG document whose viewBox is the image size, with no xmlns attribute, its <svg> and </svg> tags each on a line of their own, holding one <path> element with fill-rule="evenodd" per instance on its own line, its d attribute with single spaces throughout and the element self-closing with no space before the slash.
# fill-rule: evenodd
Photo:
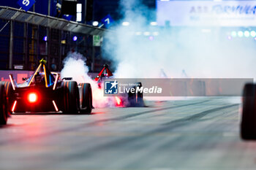
<svg viewBox="0 0 256 170">
<path fill-rule="evenodd" d="M 82 102 L 80 112 L 91 113 L 92 106 L 92 93 L 90 83 L 80 83 L 79 84 L 82 91 Z"/>
</svg>

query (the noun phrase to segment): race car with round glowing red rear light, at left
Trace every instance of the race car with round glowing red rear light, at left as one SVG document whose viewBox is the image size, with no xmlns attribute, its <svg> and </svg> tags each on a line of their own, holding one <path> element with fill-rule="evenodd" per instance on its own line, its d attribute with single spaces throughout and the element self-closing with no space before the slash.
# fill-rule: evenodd
<svg viewBox="0 0 256 170">
<path fill-rule="evenodd" d="M 0 83 L 1 106 L 5 115 L 34 112 L 91 113 L 92 94 L 89 83 L 60 80 L 58 73 L 50 72 L 41 60 L 34 74 L 17 84 L 10 74 L 10 82 Z M 5 92 L 5 93 L 4 93 Z M 7 98 L 5 100 L 4 98 Z M 8 108 L 8 111 L 6 110 Z M 4 124 L 4 123 L 2 123 Z"/>
</svg>

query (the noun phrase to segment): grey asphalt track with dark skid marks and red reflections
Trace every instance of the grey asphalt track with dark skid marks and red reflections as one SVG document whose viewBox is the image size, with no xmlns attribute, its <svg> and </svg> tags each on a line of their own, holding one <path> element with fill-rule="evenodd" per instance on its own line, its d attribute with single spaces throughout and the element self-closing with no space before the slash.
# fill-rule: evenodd
<svg viewBox="0 0 256 170">
<path fill-rule="evenodd" d="M 92 115 L 12 115 L 0 169 L 256 169 L 239 136 L 240 98 L 151 101 Z"/>
</svg>

